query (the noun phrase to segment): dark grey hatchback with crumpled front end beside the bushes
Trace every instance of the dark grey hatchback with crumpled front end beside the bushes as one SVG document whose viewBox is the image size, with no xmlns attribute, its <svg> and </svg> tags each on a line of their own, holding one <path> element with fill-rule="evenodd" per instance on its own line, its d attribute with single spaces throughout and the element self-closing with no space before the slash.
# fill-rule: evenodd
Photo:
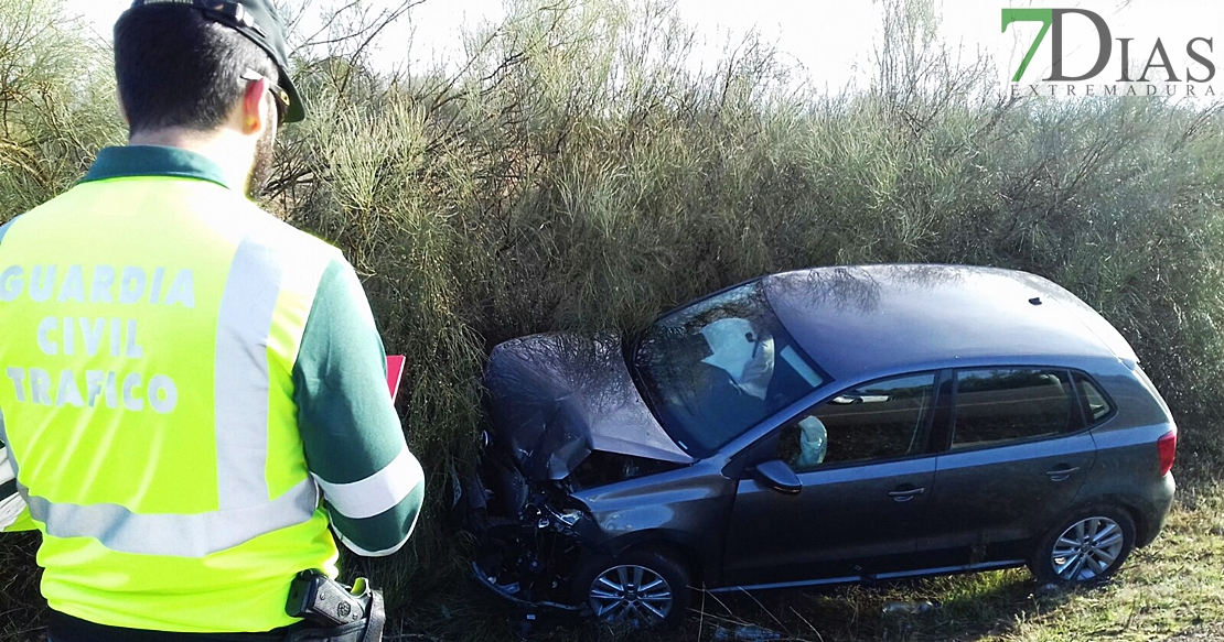
<svg viewBox="0 0 1224 642">
<path fill-rule="evenodd" d="M 760 278 L 640 336 L 497 346 L 458 506 L 519 604 L 660 624 L 711 592 L 1027 565 L 1114 574 L 1173 501 L 1176 428 L 1062 287 L 956 265 Z"/>
</svg>

